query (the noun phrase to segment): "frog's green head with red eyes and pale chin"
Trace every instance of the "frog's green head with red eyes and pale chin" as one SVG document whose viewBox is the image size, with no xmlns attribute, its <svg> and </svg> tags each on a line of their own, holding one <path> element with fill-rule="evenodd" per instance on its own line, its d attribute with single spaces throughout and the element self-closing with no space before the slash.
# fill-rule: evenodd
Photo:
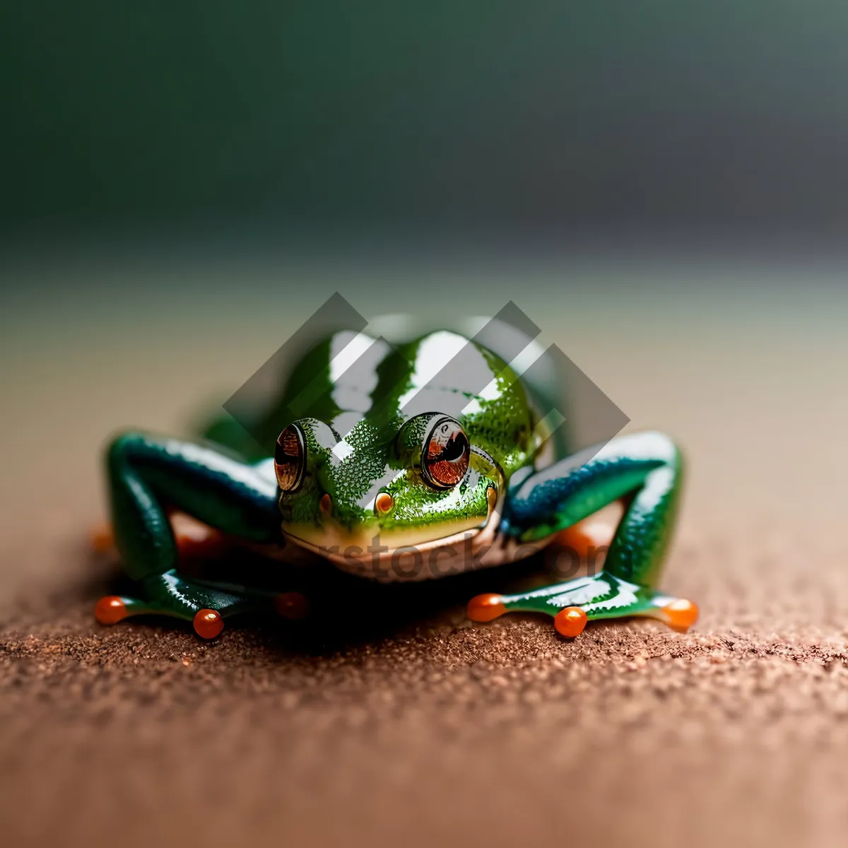
<svg viewBox="0 0 848 848">
<path fill-rule="evenodd" d="M 382 427 L 363 420 L 346 438 L 302 419 L 277 439 L 274 466 L 287 539 L 351 572 L 450 573 L 451 558 L 499 523 L 503 471 L 438 412 Z"/>
</svg>

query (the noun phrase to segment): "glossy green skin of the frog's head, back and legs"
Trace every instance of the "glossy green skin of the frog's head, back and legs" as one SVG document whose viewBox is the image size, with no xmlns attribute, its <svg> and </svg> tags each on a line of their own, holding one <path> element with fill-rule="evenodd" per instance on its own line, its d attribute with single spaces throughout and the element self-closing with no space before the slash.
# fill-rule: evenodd
<svg viewBox="0 0 848 848">
<path fill-rule="evenodd" d="M 501 544 L 511 540 L 528 552 L 612 501 L 628 499 L 603 572 L 503 596 L 507 610 L 555 614 L 579 606 L 594 619 L 651 615 L 674 600 L 653 589 L 681 480 L 680 455 L 670 439 L 660 433 L 620 437 L 589 462 L 564 458 L 535 471 L 532 404 L 522 382 L 495 354 L 471 348 L 477 367 L 469 373 L 482 369 L 493 381 L 483 393 L 475 391 L 471 377 L 454 378 L 450 385 L 427 382 L 427 357 L 444 334 L 399 347 L 402 358 L 388 355 L 387 347 L 371 371 L 354 374 L 351 368 L 334 376 L 333 354 L 352 335 L 327 338 L 304 356 L 268 413 L 273 427 L 275 416 L 290 405 L 305 404 L 308 410 L 298 419 L 308 448 L 304 480 L 293 493 L 279 492 L 272 461 L 232 422 L 216 421 L 205 442 L 137 432 L 114 439 L 107 454 L 114 538 L 138 585 L 137 597 L 121 598 L 127 614 L 159 612 L 191 620 L 203 609 L 227 616 L 273 605 L 272 595 L 237 579 L 225 588 L 178 575 L 168 507 L 251 543 L 282 547 L 293 537 L 320 543 L 412 533 L 416 544 L 432 544 L 456 527 L 487 522 L 488 489 L 503 504 Z M 416 389 L 416 410 L 428 410 L 427 416 L 403 409 Z M 473 451 L 466 477 L 447 490 L 432 488 L 420 467 L 424 422 L 446 408 L 463 409 L 456 417 Z M 271 432 L 290 422 L 277 417 Z M 341 436 L 349 446 L 343 459 L 332 450 Z M 374 508 L 376 491 L 392 495 L 393 508 L 385 515 Z M 326 494 L 332 498 L 330 515 L 321 510 Z"/>
</svg>

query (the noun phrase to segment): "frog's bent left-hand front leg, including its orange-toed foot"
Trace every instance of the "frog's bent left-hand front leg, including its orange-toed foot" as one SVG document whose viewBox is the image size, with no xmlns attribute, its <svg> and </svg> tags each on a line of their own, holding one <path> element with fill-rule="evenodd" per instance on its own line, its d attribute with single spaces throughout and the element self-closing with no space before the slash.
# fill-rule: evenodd
<svg viewBox="0 0 848 848">
<path fill-rule="evenodd" d="M 285 611 L 287 595 L 223 589 L 176 573 L 169 508 L 249 541 L 278 538 L 276 481 L 259 464 L 210 446 L 131 432 L 111 444 L 107 471 L 114 543 L 138 591 L 136 597 L 102 598 L 95 610 L 99 622 L 159 613 L 193 622 L 209 639 L 220 633 L 226 616 L 275 605 Z"/>
</svg>

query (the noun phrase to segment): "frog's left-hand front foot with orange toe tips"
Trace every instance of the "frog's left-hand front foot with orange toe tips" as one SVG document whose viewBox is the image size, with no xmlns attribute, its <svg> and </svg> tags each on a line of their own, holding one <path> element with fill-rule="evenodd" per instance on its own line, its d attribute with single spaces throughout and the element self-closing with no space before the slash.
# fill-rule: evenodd
<svg viewBox="0 0 848 848">
<path fill-rule="evenodd" d="M 299 621 L 309 605 L 298 592 L 266 592 L 258 589 L 205 583 L 176 572 L 147 577 L 138 583 L 142 597 L 107 595 L 98 600 L 94 616 L 101 624 L 117 624 L 128 616 L 145 614 L 174 616 L 192 622 L 195 633 L 214 639 L 224 629 L 224 619 L 244 612 L 274 611 Z"/>
</svg>

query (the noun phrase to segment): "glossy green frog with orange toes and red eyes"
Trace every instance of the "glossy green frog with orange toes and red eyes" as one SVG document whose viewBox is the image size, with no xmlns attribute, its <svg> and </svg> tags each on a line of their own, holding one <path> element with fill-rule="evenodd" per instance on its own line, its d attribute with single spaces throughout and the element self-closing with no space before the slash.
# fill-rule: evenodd
<svg viewBox="0 0 848 848">
<path fill-rule="evenodd" d="M 355 367 L 339 365 L 351 350 Z M 262 445 L 226 415 L 192 438 L 117 433 L 104 451 L 110 538 L 132 588 L 98 600 L 98 622 L 173 616 L 215 639 L 231 616 L 306 614 L 300 594 L 248 585 L 237 556 L 225 582 L 185 573 L 180 517 L 272 559 L 397 583 L 532 561 L 618 504 L 600 569 L 477 594 L 467 618 L 543 613 L 574 639 L 588 622 L 647 616 L 685 633 L 697 605 L 657 587 L 682 489 L 678 445 L 618 432 L 551 450 L 555 427 L 526 382 L 470 333 L 393 345 L 335 330 L 293 363 Z"/>
</svg>

